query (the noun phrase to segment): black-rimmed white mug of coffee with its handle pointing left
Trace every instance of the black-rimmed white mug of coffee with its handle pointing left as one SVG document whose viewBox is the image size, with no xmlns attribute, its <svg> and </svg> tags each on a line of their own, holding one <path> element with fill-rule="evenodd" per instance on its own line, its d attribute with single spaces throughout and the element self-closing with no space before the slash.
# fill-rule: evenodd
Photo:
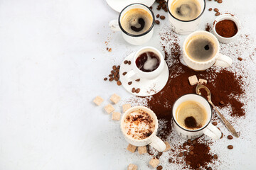
<svg viewBox="0 0 256 170">
<path fill-rule="evenodd" d="M 132 45 L 148 42 L 154 32 L 154 13 L 144 4 L 130 4 L 119 14 L 118 20 L 109 23 L 112 30 L 122 31 L 124 40 Z"/>
</svg>

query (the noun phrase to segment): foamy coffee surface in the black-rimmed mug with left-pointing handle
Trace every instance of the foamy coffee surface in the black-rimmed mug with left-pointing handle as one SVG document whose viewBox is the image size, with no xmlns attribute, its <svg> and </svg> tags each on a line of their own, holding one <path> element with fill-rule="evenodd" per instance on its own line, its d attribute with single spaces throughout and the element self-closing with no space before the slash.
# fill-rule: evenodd
<svg viewBox="0 0 256 170">
<path fill-rule="evenodd" d="M 151 28 L 152 16 L 142 8 L 133 8 L 122 16 L 121 26 L 127 33 L 140 35 Z"/>
</svg>

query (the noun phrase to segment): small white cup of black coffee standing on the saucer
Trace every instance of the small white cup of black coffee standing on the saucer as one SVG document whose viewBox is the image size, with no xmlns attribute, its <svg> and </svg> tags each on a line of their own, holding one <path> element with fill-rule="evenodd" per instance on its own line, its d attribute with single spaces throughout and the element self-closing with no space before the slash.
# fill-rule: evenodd
<svg viewBox="0 0 256 170">
<path fill-rule="evenodd" d="M 154 79 L 164 70 L 164 56 L 155 47 L 142 47 L 132 58 L 132 70 L 127 72 L 127 79 Z"/>
</svg>

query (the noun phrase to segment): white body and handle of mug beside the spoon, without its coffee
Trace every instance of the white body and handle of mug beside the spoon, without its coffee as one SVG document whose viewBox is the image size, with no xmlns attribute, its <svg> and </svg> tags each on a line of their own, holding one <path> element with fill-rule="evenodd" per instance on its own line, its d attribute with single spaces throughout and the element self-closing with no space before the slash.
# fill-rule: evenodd
<svg viewBox="0 0 256 170">
<path fill-rule="evenodd" d="M 178 123 L 178 120 L 176 120 L 177 108 L 181 105 L 181 103 L 185 101 L 196 101 L 206 109 L 206 123 L 205 125 L 202 125 L 201 128 L 198 128 L 196 130 L 187 129 L 180 125 Z M 206 101 L 206 98 L 203 98 L 202 96 L 199 96 L 197 94 L 186 94 L 184 96 L 181 96 L 174 102 L 174 106 L 172 108 L 172 115 L 175 130 L 178 132 L 178 135 L 181 135 L 186 139 L 194 139 L 196 137 L 200 137 L 203 134 L 207 135 L 208 137 L 211 137 L 213 140 L 218 140 L 221 137 L 220 130 L 218 130 L 218 128 L 216 128 L 212 123 L 210 123 L 211 118 L 213 116 L 213 112 L 212 109 L 210 108 L 208 101 Z"/>
</svg>

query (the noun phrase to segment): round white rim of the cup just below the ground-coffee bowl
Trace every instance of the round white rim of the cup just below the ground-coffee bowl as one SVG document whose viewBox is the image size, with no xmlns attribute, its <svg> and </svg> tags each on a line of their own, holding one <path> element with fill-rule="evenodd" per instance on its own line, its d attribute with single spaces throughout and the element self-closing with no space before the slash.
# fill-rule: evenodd
<svg viewBox="0 0 256 170">
<path fill-rule="evenodd" d="M 195 61 L 195 60 L 192 60 L 191 57 L 189 57 L 188 54 L 187 54 L 187 52 L 186 52 L 186 42 L 188 42 L 188 39 L 189 39 L 189 38 L 191 38 L 193 35 L 196 35 L 196 34 L 198 34 L 198 33 L 206 33 L 206 34 L 210 35 L 210 37 L 212 37 L 212 38 L 215 40 L 215 42 L 216 42 L 217 52 L 216 52 L 216 54 L 215 54 L 214 57 L 212 57 L 210 60 L 208 60 L 208 61 L 206 61 L 206 62 L 197 62 L 197 61 Z M 209 32 L 206 31 L 206 30 L 196 30 L 195 32 L 189 34 L 189 35 L 186 37 L 186 39 L 184 40 L 184 42 L 183 42 L 183 53 L 184 53 L 183 55 L 186 55 L 186 58 L 187 58 L 189 61 L 193 62 L 193 63 L 201 64 L 201 65 L 209 64 L 209 63 L 213 62 L 213 60 L 215 60 L 215 59 L 218 57 L 218 54 L 220 53 L 220 42 L 218 41 L 218 38 L 216 38 L 216 36 L 213 35 L 213 33 L 209 33 Z"/>
</svg>

